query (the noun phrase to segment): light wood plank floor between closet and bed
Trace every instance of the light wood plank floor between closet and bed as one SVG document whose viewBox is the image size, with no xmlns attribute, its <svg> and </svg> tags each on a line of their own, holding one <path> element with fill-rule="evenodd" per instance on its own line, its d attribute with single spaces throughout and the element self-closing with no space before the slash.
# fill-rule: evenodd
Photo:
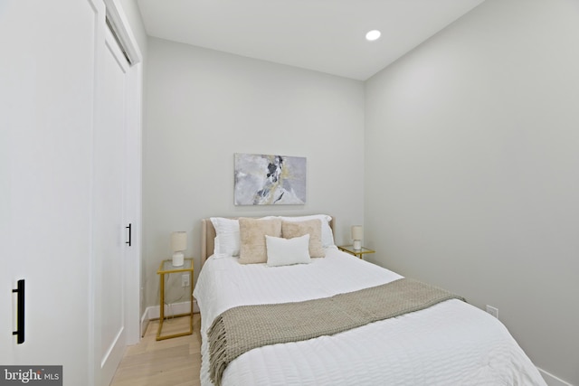
<svg viewBox="0 0 579 386">
<path fill-rule="evenodd" d="M 189 317 L 166 320 L 163 334 L 186 331 Z M 151 321 L 140 343 L 128 346 L 110 386 L 197 386 L 200 384 L 201 318 L 193 318 L 194 332 L 157 341 L 158 321 Z"/>
</svg>

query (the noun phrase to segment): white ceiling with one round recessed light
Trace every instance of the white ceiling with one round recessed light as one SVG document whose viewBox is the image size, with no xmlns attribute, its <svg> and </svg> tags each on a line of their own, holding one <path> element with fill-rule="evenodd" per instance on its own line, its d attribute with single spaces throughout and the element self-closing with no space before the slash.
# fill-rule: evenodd
<svg viewBox="0 0 579 386">
<path fill-rule="evenodd" d="M 147 34 L 366 80 L 484 0 L 138 0 Z M 375 42 L 365 33 L 380 30 Z"/>
</svg>

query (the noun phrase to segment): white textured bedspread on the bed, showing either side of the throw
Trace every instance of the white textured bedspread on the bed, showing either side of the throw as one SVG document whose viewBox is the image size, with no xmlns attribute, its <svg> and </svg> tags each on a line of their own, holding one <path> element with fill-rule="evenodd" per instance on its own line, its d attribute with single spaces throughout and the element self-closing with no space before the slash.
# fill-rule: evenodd
<svg viewBox="0 0 579 386">
<path fill-rule="evenodd" d="M 202 385 L 212 384 L 207 329 L 228 308 L 331 297 L 396 278 L 402 277 L 337 249 L 286 267 L 207 259 L 194 292 L 202 315 Z M 341 334 L 257 348 L 223 373 L 223 385 L 258 384 L 546 385 L 504 325 L 456 299 Z"/>
</svg>

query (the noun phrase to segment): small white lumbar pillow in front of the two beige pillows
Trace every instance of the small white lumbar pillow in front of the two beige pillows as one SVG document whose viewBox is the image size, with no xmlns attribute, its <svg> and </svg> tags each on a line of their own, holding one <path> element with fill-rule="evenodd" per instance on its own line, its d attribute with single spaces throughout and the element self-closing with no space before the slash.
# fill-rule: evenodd
<svg viewBox="0 0 579 386">
<path fill-rule="evenodd" d="M 268 252 L 267 265 L 270 267 L 311 262 L 309 258 L 309 234 L 293 239 L 265 235 L 265 244 Z"/>
</svg>

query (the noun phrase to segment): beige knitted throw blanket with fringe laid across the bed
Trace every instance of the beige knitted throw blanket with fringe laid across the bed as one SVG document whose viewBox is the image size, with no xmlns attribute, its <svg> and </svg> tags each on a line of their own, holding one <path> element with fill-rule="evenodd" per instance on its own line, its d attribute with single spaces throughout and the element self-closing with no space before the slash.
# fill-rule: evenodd
<svg viewBox="0 0 579 386">
<path fill-rule="evenodd" d="M 217 316 L 208 332 L 211 380 L 220 385 L 229 362 L 253 348 L 341 333 L 451 298 L 464 301 L 441 288 L 401 278 L 334 297 L 233 307 Z"/>
</svg>

